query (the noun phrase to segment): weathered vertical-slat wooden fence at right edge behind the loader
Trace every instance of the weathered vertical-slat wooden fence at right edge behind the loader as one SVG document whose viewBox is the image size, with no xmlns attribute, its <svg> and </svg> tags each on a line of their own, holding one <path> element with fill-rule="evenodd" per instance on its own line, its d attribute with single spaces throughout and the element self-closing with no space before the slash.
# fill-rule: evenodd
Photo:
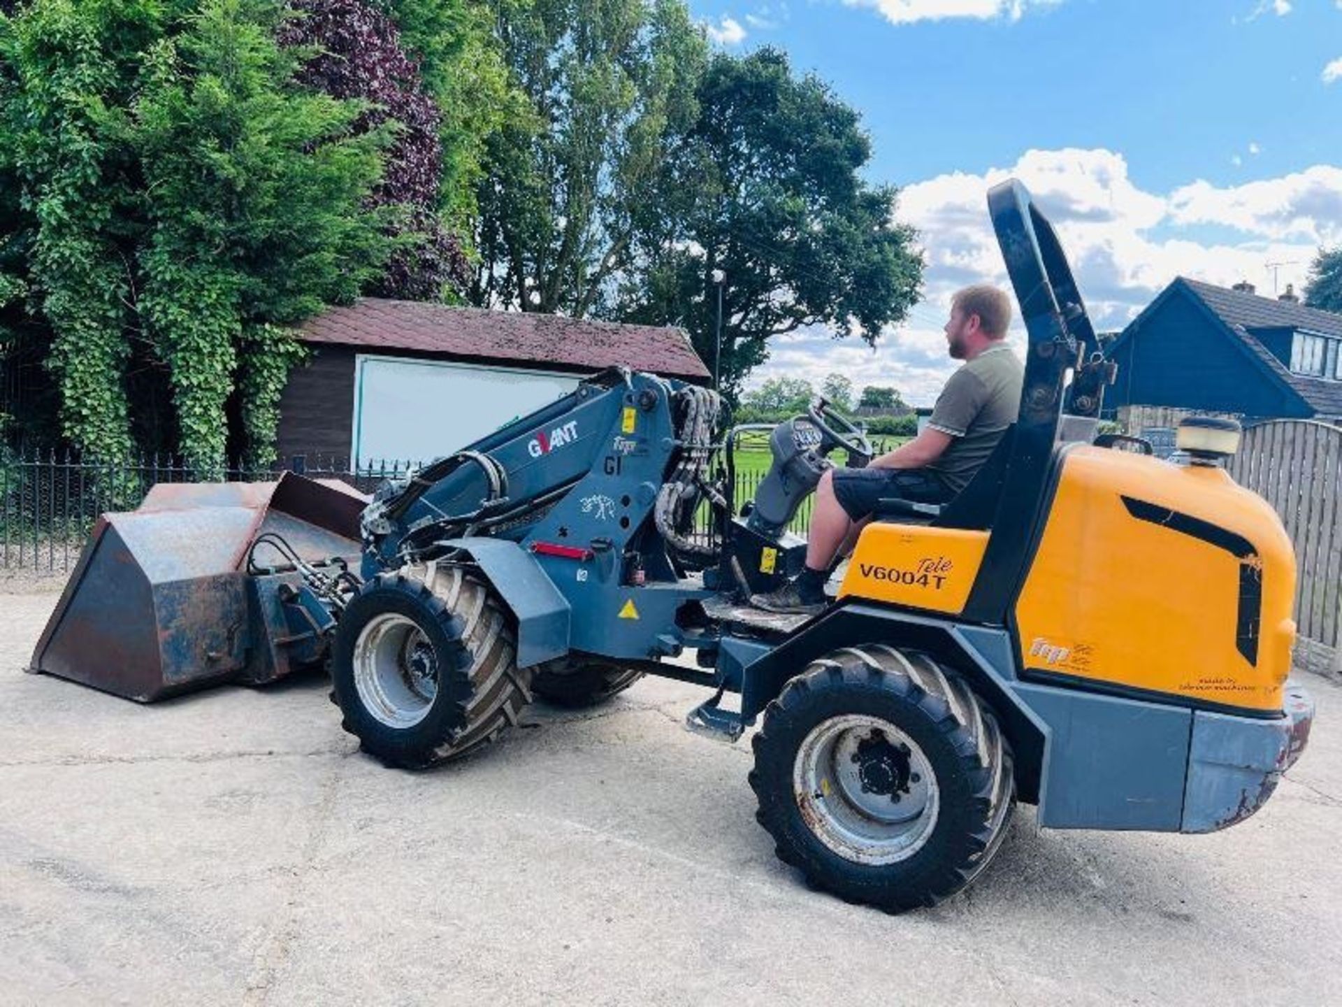
<svg viewBox="0 0 1342 1007">
<path fill-rule="evenodd" d="M 1274 506 L 1295 545 L 1300 636 L 1342 663 L 1342 428 L 1272 420 L 1244 431 L 1231 475 Z"/>
</svg>

